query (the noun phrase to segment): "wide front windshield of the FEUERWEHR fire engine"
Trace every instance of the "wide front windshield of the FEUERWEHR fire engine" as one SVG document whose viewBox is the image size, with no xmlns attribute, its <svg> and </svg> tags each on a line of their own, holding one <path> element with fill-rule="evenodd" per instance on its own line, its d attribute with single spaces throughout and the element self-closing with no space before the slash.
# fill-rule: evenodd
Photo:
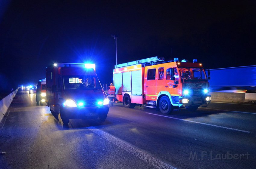
<svg viewBox="0 0 256 169">
<path fill-rule="evenodd" d="M 192 67 L 180 67 L 181 81 L 198 81 L 207 80 L 207 76 L 202 68 L 192 68 Z"/>
</svg>

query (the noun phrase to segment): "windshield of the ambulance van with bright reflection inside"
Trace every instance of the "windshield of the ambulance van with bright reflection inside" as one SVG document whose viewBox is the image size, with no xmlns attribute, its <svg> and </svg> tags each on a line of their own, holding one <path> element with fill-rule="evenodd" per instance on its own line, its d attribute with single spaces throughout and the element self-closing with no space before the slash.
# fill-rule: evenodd
<svg viewBox="0 0 256 169">
<path fill-rule="evenodd" d="M 101 84 L 96 76 L 65 76 L 64 90 L 101 90 Z"/>
</svg>

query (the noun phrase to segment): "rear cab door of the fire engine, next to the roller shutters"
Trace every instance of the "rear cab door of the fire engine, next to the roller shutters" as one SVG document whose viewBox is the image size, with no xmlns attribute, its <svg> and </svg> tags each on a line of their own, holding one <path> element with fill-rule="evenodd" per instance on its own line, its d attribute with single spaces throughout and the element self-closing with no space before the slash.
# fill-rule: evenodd
<svg viewBox="0 0 256 169">
<path fill-rule="evenodd" d="M 147 69 L 145 78 L 145 95 L 146 100 L 156 101 L 156 69 Z"/>
</svg>

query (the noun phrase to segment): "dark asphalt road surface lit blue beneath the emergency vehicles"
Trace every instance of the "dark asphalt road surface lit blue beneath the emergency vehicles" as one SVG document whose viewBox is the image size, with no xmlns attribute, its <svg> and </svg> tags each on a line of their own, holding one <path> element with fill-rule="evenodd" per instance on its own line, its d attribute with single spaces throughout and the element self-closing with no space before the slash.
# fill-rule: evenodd
<svg viewBox="0 0 256 169">
<path fill-rule="evenodd" d="M 256 105 L 210 103 L 163 115 L 122 103 L 106 121 L 63 126 L 19 89 L 0 123 L 0 168 L 255 168 Z"/>
</svg>

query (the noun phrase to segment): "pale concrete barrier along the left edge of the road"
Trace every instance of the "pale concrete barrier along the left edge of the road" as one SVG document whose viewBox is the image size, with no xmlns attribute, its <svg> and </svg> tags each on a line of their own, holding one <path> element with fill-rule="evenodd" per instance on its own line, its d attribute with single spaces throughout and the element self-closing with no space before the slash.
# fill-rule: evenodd
<svg viewBox="0 0 256 169">
<path fill-rule="evenodd" d="M 0 121 L 4 117 L 5 113 L 7 112 L 9 106 L 11 105 L 11 102 L 13 98 L 15 97 L 16 93 L 19 89 L 13 91 L 11 94 L 0 100 Z"/>
</svg>

